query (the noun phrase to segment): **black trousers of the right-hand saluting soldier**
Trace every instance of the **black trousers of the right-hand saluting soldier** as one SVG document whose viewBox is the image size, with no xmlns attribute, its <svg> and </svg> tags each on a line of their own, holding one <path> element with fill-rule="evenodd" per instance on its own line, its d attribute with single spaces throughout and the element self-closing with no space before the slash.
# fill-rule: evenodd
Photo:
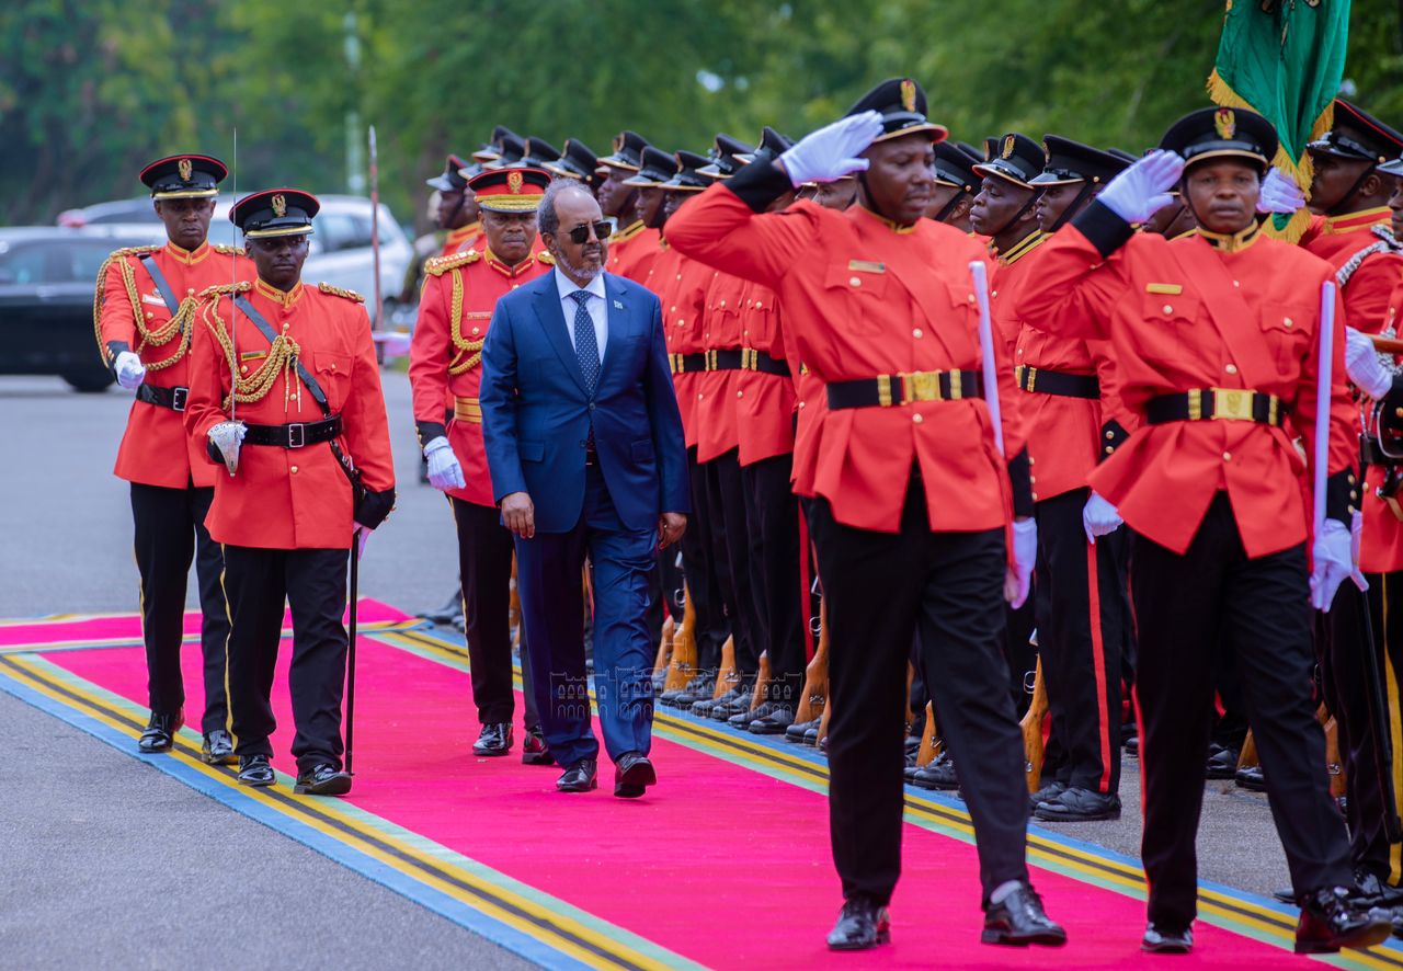
<svg viewBox="0 0 1403 971">
<path fill-rule="evenodd" d="M 1131 557 L 1149 919 L 1179 929 L 1197 913 L 1194 836 L 1212 727 L 1212 652 L 1222 641 L 1242 675 L 1292 888 L 1302 895 L 1350 885 L 1350 848 L 1312 700 L 1305 544 L 1249 558 L 1228 494 L 1218 493 L 1184 554 L 1135 536 Z"/>
</svg>

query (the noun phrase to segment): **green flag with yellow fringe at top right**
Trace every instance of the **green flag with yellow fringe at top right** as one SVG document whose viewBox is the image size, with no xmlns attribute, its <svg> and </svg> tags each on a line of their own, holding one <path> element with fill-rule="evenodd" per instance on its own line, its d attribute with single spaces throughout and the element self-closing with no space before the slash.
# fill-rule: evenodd
<svg viewBox="0 0 1403 971">
<path fill-rule="evenodd" d="M 1277 129 L 1273 164 L 1310 185 L 1306 143 L 1330 130 L 1344 77 L 1350 0 L 1228 0 L 1208 97 L 1249 108 Z M 1309 216 L 1274 216 L 1277 236 L 1296 239 Z"/>
</svg>

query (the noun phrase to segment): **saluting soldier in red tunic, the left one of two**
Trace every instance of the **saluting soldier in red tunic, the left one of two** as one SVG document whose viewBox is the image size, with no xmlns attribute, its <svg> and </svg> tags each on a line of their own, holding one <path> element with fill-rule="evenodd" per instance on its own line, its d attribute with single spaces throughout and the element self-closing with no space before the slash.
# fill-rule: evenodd
<svg viewBox="0 0 1403 971">
<path fill-rule="evenodd" d="M 829 947 L 866 949 L 890 936 L 913 643 L 946 742 L 967 769 L 982 940 L 1061 944 L 1066 933 L 1028 883 L 1023 745 L 1003 658 L 1005 589 L 1023 602 L 1035 549 L 1027 450 L 1000 341 L 984 352 L 1000 375 L 1012 463 L 984 401 L 968 268 L 984 247 L 925 219 L 930 146 L 946 135 L 925 108 L 915 81 L 884 81 L 777 163 L 756 160 L 707 189 L 668 236 L 683 254 L 773 288 L 804 362 L 828 384 L 822 446 L 796 453 L 794 478 L 800 494 L 815 497 L 832 631 L 829 807 L 846 902 Z M 853 171 L 859 201 L 847 212 L 808 201 L 765 212 L 804 182 Z"/>
</svg>

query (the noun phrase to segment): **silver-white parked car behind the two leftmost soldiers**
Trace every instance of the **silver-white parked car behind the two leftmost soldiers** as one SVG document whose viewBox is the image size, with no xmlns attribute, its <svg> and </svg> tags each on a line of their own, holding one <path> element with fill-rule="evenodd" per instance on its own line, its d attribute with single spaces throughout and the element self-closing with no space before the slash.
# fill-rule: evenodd
<svg viewBox="0 0 1403 971">
<path fill-rule="evenodd" d="M 375 260 L 370 248 L 370 201 L 356 195 L 323 195 L 321 212 L 311 220 L 311 251 L 302 269 L 302 278 L 311 283 L 331 283 L 375 300 Z M 215 217 L 209 225 L 210 243 L 234 243 L 234 225 L 229 209 L 234 196 L 220 195 L 215 203 Z M 83 209 L 69 209 L 59 215 L 59 225 L 93 232 L 121 232 L 126 236 L 156 233 L 163 239 L 160 220 L 149 198 L 98 202 Z M 390 208 L 380 203 L 380 290 L 386 319 L 391 320 L 404 275 L 414 260 L 414 247 Z M 372 316 L 375 307 L 370 307 Z"/>
</svg>

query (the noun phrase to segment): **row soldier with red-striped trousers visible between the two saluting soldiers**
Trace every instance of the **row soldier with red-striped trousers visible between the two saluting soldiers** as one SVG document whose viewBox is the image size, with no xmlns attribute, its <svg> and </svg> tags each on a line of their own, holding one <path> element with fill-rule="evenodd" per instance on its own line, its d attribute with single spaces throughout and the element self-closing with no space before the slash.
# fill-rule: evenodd
<svg viewBox="0 0 1403 971">
<path fill-rule="evenodd" d="M 1082 212 L 1125 161 L 1056 135 L 1044 139 L 1047 166 L 1038 229 L 1052 233 Z M 1037 286 L 1037 255 L 1031 257 Z M 1030 798 L 1040 819 L 1085 822 L 1121 815 L 1121 665 L 1129 637 L 1125 530 L 1097 540 L 1086 516 L 1111 515 L 1086 476 L 1134 429 L 1104 342 L 1048 334 L 1021 317 L 1014 377 L 1033 463 L 1038 522 L 1035 608 L 1047 686 L 1055 776 Z"/>
</svg>

